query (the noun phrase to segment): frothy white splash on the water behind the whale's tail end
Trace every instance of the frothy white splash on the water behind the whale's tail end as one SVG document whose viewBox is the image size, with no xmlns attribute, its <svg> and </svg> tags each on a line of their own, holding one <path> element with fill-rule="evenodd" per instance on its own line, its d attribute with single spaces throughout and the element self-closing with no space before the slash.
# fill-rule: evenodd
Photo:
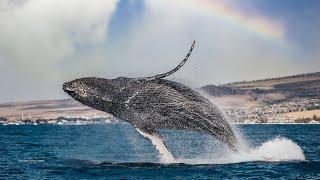
<svg viewBox="0 0 320 180">
<path fill-rule="evenodd" d="M 225 150 L 223 155 L 207 156 L 206 158 L 178 159 L 186 164 L 228 164 L 250 161 L 304 161 L 303 150 L 295 142 L 287 138 L 277 137 L 262 143 L 255 148 L 241 148 L 238 152 Z"/>
</svg>

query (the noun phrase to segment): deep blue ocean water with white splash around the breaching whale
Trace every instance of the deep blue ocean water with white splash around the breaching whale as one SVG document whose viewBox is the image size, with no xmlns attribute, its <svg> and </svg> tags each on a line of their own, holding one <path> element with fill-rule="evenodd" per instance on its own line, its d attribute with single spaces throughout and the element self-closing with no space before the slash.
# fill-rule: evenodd
<svg viewBox="0 0 320 180">
<path fill-rule="evenodd" d="M 237 153 L 205 134 L 161 131 L 176 159 L 163 163 L 127 123 L 0 125 L 0 179 L 320 178 L 320 125 L 237 129 Z"/>
</svg>

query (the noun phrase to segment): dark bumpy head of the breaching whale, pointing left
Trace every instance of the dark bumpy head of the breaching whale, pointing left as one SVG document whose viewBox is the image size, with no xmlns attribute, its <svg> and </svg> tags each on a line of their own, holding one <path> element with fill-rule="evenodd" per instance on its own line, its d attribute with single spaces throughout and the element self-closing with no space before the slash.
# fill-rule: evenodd
<svg viewBox="0 0 320 180">
<path fill-rule="evenodd" d="M 114 97 L 119 92 L 119 83 L 112 79 L 96 77 L 75 79 L 64 83 L 63 91 L 86 106 L 112 115 L 117 113 L 117 101 Z"/>
</svg>

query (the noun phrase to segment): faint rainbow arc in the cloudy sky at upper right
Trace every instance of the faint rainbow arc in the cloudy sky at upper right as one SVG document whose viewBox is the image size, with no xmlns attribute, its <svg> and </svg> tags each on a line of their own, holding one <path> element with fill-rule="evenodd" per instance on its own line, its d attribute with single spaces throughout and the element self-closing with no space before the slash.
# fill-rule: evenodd
<svg viewBox="0 0 320 180">
<path fill-rule="evenodd" d="M 214 16 L 259 36 L 282 40 L 285 29 L 281 22 L 272 21 L 264 16 L 249 15 L 215 0 L 173 0 L 180 8 L 188 8 L 199 13 Z"/>
</svg>

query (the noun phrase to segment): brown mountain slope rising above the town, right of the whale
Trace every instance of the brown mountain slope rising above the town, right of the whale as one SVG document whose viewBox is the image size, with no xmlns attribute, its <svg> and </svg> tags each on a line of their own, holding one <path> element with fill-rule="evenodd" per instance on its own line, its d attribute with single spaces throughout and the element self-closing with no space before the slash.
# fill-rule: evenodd
<svg viewBox="0 0 320 180">
<path fill-rule="evenodd" d="M 275 94 L 277 97 L 279 97 L 279 95 L 284 97 L 282 100 L 296 97 L 319 97 L 320 72 L 254 81 L 241 81 L 220 86 L 206 85 L 201 87 L 201 89 L 212 96 L 247 94 L 254 99 Z M 279 99 L 277 98 L 277 100 Z M 270 102 L 272 102 L 272 99 Z"/>
</svg>

